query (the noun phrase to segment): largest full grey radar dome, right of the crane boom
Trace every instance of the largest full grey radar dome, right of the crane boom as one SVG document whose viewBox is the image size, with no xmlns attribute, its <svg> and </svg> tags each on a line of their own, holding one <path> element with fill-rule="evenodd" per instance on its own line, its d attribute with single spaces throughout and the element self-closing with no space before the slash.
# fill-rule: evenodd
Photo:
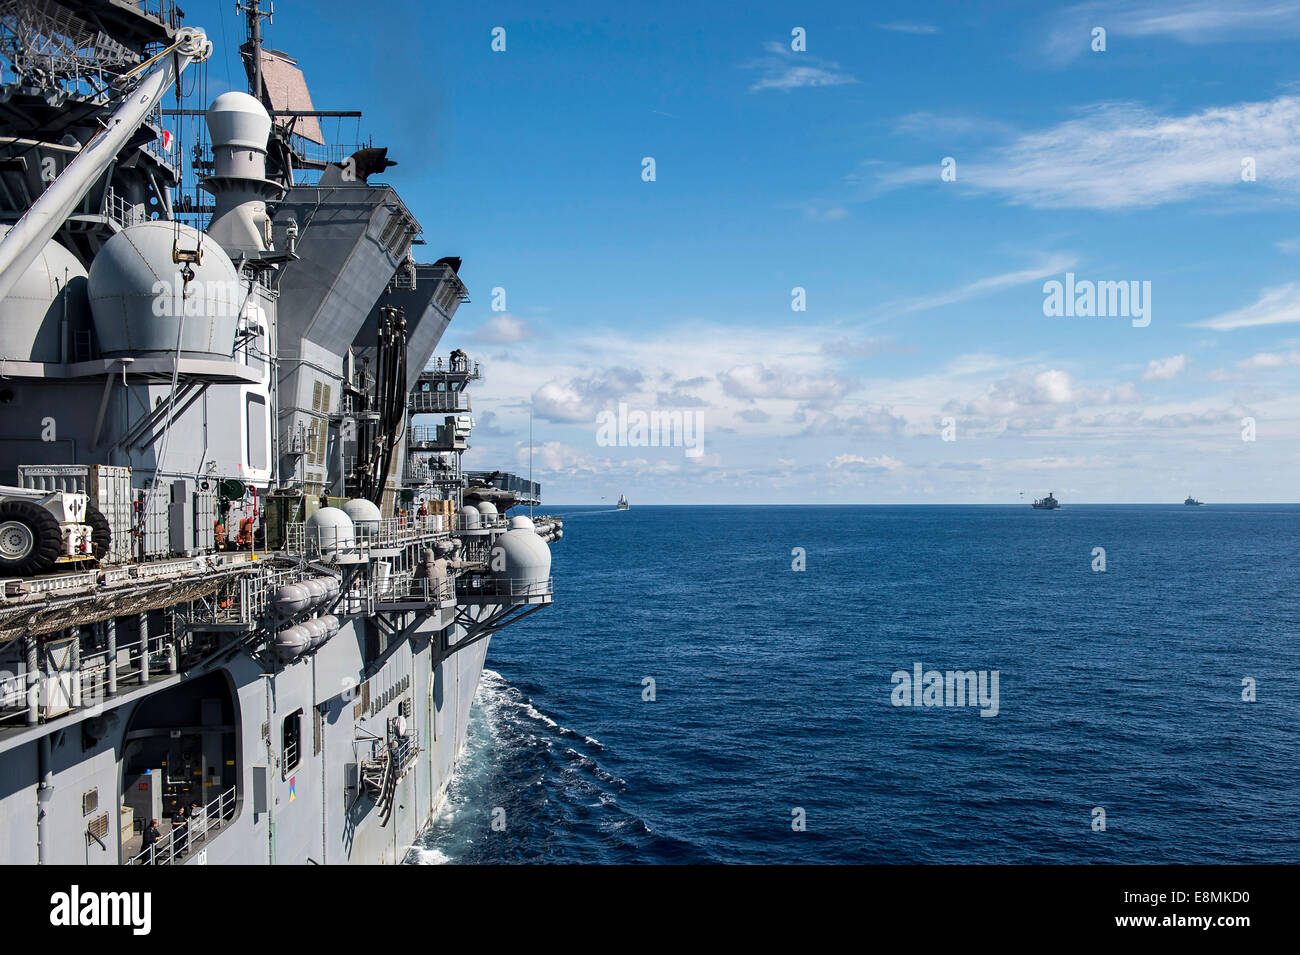
<svg viewBox="0 0 1300 955">
<path fill-rule="evenodd" d="M 173 251 L 199 249 L 188 282 Z M 99 351 L 114 355 L 172 355 L 229 360 L 247 290 L 230 256 L 196 229 L 176 222 L 140 222 L 107 243 L 90 265 L 90 308 Z"/>
</svg>

